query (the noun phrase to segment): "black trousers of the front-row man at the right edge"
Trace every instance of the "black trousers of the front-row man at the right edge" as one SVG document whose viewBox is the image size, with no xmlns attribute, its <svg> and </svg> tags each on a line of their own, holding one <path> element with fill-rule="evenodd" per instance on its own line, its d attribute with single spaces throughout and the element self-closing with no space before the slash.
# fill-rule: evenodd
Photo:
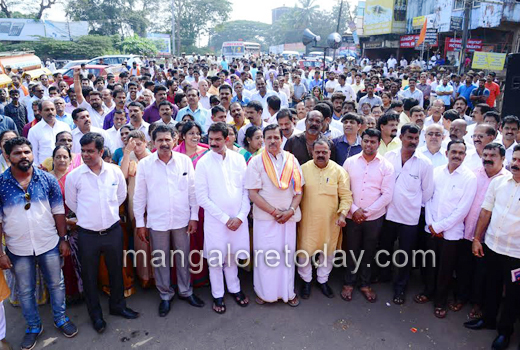
<svg viewBox="0 0 520 350">
<path fill-rule="evenodd" d="M 484 263 L 487 265 L 484 320 L 497 325 L 498 334 L 510 336 L 520 315 L 520 282 L 511 280 L 511 270 L 520 268 L 520 259 L 495 253 L 484 246 Z M 505 296 L 502 292 L 505 286 Z M 502 304 L 502 312 L 497 315 Z"/>
</svg>

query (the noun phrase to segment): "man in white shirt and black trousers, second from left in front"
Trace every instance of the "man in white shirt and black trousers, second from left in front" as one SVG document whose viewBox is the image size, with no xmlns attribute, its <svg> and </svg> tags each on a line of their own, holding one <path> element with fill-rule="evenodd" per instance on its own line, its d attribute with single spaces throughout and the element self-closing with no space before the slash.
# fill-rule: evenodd
<svg viewBox="0 0 520 350">
<path fill-rule="evenodd" d="M 78 247 L 83 288 L 96 332 L 106 328 L 99 303 L 99 257 L 105 256 L 110 276 L 111 315 L 135 319 L 139 313 L 126 306 L 123 283 L 123 231 L 119 206 L 126 200 L 121 169 L 103 161 L 103 136 L 87 133 L 80 141 L 83 165 L 67 175 L 65 202 L 78 218 Z"/>
</svg>

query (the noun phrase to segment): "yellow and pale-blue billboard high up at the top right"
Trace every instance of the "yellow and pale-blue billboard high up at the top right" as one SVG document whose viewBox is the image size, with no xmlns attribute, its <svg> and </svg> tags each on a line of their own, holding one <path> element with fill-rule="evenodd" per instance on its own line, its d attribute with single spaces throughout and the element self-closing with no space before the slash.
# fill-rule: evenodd
<svg viewBox="0 0 520 350">
<path fill-rule="evenodd" d="M 392 32 L 393 0 L 367 0 L 363 18 L 363 34 L 389 34 Z"/>
</svg>

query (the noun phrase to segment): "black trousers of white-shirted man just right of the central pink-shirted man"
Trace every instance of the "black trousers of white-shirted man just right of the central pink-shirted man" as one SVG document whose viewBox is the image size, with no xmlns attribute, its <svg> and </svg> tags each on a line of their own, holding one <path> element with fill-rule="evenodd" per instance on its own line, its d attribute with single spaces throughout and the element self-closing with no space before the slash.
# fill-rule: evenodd
<svg viewBox="0 0 520 350">
<path fill-rule="evenodd" d="M 405 257 L 403 253 L 399 253 L 396 256 L 395 262 L 398 264 L 397 276 L 394 281 L 394 293 L 401 294 L 406 291 L 406 286 L 410 280 L 410 271 L 412 269 L 412 251 L 415 249 L 417 243 L 417 225 L 405 225 L 390 220 L 385 220 L 383 224 L 383 230 L 379 240 L 379 247 L 382 250 L 388 252 L 388 254 L 379 254 L 379 263 L 381 266 L 387 267 L 381 268 L 381 279 L 392 278 L 392 262 L 391 257 L 394 254 L 394 244 L 396 240 L 399 240 L 399 250 L 404 251 L 408 257 L 406 264 L 403 264 Z"/>
</svg>

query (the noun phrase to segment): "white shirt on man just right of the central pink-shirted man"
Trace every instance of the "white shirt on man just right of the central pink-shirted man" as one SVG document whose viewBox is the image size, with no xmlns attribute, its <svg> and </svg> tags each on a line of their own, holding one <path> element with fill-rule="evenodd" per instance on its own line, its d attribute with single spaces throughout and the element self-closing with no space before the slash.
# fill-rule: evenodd
<svg viewBox="0 0 520 350">
<path fill-rule="evenodd" d="M 417 225 L 421 206 L 433 194 L 433 166 L 421 152 L 402 165 L 401 148 L 387 152 L 385 158 L 395 170 L 395 187 L 392 202 L 387 208 L 386 219 L 405 225 Z"/>
</svg>

